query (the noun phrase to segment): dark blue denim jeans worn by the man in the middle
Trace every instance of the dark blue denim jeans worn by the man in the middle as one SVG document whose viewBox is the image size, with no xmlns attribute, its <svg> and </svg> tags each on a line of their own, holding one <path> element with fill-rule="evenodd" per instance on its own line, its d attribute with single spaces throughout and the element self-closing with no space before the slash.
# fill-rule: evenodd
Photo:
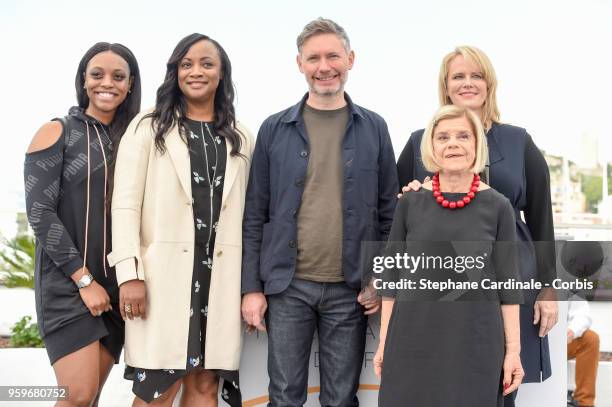
<svg viewBox="0 0 612 407">
<path fill-rule="evenodd" d="M 345 283 L 293 279 L 285 291 L 268 296 L 268 406 L 296 407 L 306 402 L 315 329 L 321 406 L 359 405 L 367 320 L 358 294 Z"/>
</svg>

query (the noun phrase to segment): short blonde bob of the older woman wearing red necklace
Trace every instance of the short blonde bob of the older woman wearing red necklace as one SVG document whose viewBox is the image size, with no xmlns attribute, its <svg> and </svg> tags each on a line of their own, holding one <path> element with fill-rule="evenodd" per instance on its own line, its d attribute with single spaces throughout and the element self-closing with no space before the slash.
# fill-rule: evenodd
<svg viewBox="0 0 612 407">
<path fill-rule="evenodd" d="M 474 163 L 470 167 L 470 171 L 478 174 L 484 170 L 489 153 L 487 150 L 487 139 L 480 118 L 468 108 L 456 105 L 446 105 L 439 108 L 434 114 L 434 117 L 427 125 L 425 133 L 423 133 L 423 138 L 421 139 L 421 160 L 423 160 L 423 166 L 427 171 L 437 172 L 442 169 L 436 161 L 433 151 L 433 135 L 436 126 L 442 120 L 457 119 L 460 117 L 468 119 L 472 126 L 474 136 L 476 137 L 476 149 L 474 151 L 476 157 L 474 158 Z"/>
</svg>

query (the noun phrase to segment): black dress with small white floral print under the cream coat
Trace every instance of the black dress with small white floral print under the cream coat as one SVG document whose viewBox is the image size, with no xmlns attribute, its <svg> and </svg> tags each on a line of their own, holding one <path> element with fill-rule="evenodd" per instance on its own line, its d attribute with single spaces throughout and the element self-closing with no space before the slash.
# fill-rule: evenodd
<svg viewBox="0 0 612 407">
<path fill-rule="evenodd" d="M 151 402 L 193 369 L 204 366 L 204 342 L 208 314 L 208 294 L 215 246 L 215 235 L 221 210 L 227 149 L 225 140 L 214 130 L 212 122 L 186 119 L 187 144 L 191 161 L 191 191 L 195 225 L 195 257 L 191 291 L 191 319 L 185 370 L 126 369 L 134 380 L 132 390 L 139 398 Z M 214 334 L 214 333 L 212 333 Z M 231 406 L 241 405 L 238 371 L 217 370 L 223 379 L 222 398 Z"/>
</svg>

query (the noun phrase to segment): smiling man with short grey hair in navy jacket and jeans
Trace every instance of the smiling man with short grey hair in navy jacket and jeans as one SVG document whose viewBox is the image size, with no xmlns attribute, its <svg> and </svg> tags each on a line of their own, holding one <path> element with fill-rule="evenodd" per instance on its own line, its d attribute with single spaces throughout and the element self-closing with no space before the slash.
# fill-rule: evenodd
<svg viewBox="0 0 612 407">
<path fill-rule="evenodd" d="M 305 403 L 315 330 L 321 405 L 356 406 L 367 315 L 379 307 L 361 243 L 391 229 L 395 157 L 385 121 L 344 92 L 354 61 L 344 29 L 319 18 L 297 45 L 309 91 L 264 121 L 253 153 L 242 314 L 267 328 L 272 406 Z"/>
</svg>

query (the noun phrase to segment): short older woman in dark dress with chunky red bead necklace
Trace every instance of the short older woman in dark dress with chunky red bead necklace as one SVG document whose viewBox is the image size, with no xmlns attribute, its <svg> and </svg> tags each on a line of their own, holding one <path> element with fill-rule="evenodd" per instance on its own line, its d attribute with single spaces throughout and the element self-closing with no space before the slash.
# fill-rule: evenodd
<svg viewBox="0 0 612 407">
<path fill-rule="evenodd" d="M 390 246 L 399 242 L 406 250 L 410 241 L 516 240 L 510 202 L 478 175 L 487 147 L 476 114 L 442 107 L 425 130 L 420 150 L 425 168 L 435 175 L 399 200 Z M 491 265 L 497 281 L 518 280 L 516 261 Z M 462 297 L 453 302 L 415 300 L 420 294 L 382 290 L 380 345 L 374 358 L 381 377 L 379 405 L 503 406 L 503 396 L 516 390 L 524 375 L 521 292 L 498 290 L 493 297 L 478 297 L 483 300 Z"/>
</svg>

